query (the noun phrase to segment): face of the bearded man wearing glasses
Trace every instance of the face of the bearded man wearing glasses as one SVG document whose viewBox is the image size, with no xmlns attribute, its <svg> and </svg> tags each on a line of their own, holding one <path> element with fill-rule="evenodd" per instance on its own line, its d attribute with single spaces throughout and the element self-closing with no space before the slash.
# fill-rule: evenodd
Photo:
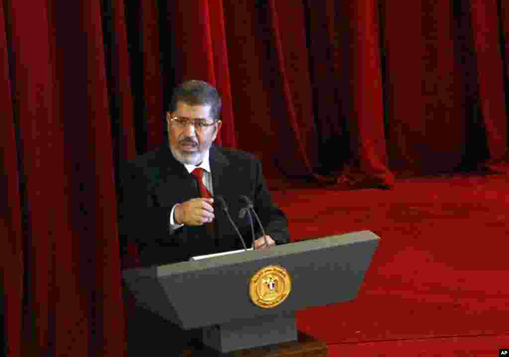
<svg viewBox="0 0 509 357">
<path fill-rule="evenodd" d="M 209 150 L 212 142 L 216 139 L 221 122 L 212 126 L 195 128 L 192 124 L 182 126 L 170 119 L 174 117 L 201 119 L 211 123 L 213 118 L 210 116 L 210 108 L 210 105 L 189 105 L 177 102 L 176 111 L 167 114 L 169 147 L 173 156 L 181 163 L 197 165 L 203 161 L 205 152 Z"/>
</svg>

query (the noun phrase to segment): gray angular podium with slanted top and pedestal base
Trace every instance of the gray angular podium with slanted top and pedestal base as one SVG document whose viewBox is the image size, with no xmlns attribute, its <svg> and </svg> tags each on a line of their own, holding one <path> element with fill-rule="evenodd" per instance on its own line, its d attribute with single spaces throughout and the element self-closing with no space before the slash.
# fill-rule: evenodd
<svg viewBox="0 0 509 357">
<path fill-rule="evenodd" d="M 219 352 L 295 341 L 295 312 L 353 300 L 378 246 L 370 231 L 329 236 L 197 261 L 126 269 L 136 303 L 183 329 L 203 328 Z M 277 306 L 253 303 L 250 282 L 267 266 L 286 269 L 291 290 Z"/>
</svg>

